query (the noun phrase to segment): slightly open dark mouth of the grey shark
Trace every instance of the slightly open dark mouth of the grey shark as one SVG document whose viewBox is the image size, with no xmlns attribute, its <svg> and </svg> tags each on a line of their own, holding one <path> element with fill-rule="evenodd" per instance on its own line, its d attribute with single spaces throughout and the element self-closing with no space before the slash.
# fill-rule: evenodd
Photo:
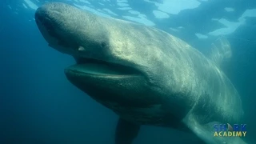
<svg viewBox="0 0 256 144">
<path fill-rule="evenodd" d="M 75 58 L 76 64 L 66 68 L 66 73 L 94 76 L 140 75 L 141 72 L 130 66 L 106 62 L 94 58 Z"/>
</svg>

